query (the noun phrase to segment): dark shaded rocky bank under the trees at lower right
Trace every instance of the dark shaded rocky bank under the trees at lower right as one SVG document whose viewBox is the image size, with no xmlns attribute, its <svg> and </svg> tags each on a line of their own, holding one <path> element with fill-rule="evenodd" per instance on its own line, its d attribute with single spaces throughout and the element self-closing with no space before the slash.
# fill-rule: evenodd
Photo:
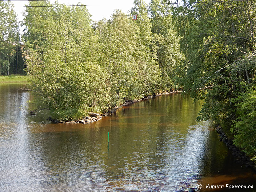
<svg viewBox="0 0 256 192">
<path fill-rule="evenodd" d="M 235 145 L 233 145 L 232 140 L 229 140 L 227 135 L 223 132 L 220 126 L 215 128 L 216 132 L 220 135 L 220 141 L 224 142 L 226 146 L 232 150 L 232 155 L 236 157 L 235 162 L 245 164 L 246 167 L 251 167 L 256 171 L 256 164 L 254 164 L 249 157 L 245 155 L 244 152 L 240 151 Z"/>
</svg>

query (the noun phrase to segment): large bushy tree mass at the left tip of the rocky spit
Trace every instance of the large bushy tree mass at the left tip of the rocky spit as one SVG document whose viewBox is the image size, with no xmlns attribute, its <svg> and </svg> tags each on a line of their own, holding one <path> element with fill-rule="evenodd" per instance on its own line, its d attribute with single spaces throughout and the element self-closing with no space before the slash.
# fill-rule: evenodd
<svg viewBox="0 0 256 192">
<path fill-rule="evenodd" d="M 47 17 L 39 15 L 35 19 L 37 8 L 27 7 L 25 12 L 24 42 L 28 48 L 29 78 L 41 105 L 47 106 L 59 120 L 77 120 L 74 118 L 82 118 L 88 111 L 106 110 L 109 100 L 106 74 L 97 63 L 91 62 L 92 50 L 88 45 L 92 29 L 86 7 L 55 10 L 43 7 L 45 10 L 40 13 Z M 32 22 L 37 28 L 31 26 Z"/>
</svg>

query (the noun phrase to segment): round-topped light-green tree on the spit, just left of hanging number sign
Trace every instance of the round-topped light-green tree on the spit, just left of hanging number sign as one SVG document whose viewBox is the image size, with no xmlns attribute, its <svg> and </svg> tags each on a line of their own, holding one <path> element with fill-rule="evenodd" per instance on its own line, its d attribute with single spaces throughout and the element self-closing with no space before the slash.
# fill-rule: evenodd
<svg viewBox="0 0 256 192">
<path fill-rule="evenodd" d="M 135 85 L 136 76 L 132 56 L 136 46 L 136 34 L 127 16 L 116 10 L 113 18 L 98 26 L 101 46 L 100 65 L 108 71 L 107 84 L 111 87 L 111 105 L 123 102 L 127 92 Z"/>
</svg>

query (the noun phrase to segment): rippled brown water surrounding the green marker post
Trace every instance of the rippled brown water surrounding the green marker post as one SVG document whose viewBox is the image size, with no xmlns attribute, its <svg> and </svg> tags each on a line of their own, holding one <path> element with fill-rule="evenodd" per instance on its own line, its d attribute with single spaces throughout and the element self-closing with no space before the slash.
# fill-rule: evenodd
<svg viewBox="0 0 256 192">
<path fill-rule="evenodd" d="M 234 163 L 209 122 L 196 122 L 201 105 L 189 96 L 135 103 L 92 124 L 52 124 L 46 111 L 29 115 L 21 86 L 0 84 L 0 191 L 255 191 L 255 172 Z"/>
</svg>

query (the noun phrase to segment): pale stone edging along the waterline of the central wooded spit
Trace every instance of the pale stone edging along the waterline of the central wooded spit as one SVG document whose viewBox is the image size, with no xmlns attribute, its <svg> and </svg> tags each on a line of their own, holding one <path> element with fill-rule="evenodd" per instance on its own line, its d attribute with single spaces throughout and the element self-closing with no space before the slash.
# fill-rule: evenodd
<svg viewBox="0 0 256 192">
<path fill-rule="evenodd" d="M 169 95 L 169 94 L 177 93 L 177 92 L 182 92 L 182 91 L 179 90 L 179 91 L 172 91 L 172 92 L 155 93 L 155 94 L 153 94 L 151 96 L 145 96 L 145 97 L 137 99 L 137 100 L 127 100 L 121 106 L 126 106 L 126 105 L 130 105 L 132 103 L 137 103 L 137 102 L 140 102 L 140 101 L 143 101 L 143 100 L 148 100 L 148 99 L 151 99 L 151 98 L 154 98 L 154 97 L 157 97 L 157 96 Z M 108 113 L 107 114 L 99 114 L 99 113 L 92 113 L 92 112 L 90 112 L 89 116 L 86 116 L 84 119 L 79 119 L 77 121 L 56 121 L 56 120 L 53 120 L 51 117 L 49 117 L 48 120 L 50 120 L 50 121 L 52 121 L 54 123 L 63 123 L 63 124 L 76 124 L 76 123 L 89 124 L 89 123 L 93 123 L 95 121 L 99 121 L 103 117 L 105 117 L 105 116 L 107 116 L 107 115 L 109 115 L 111 113 L 116 112 L 117 109 L 119 109 L 118 106 L 116 106 L 115 108 L 108 109 Z"/>
</svg>

